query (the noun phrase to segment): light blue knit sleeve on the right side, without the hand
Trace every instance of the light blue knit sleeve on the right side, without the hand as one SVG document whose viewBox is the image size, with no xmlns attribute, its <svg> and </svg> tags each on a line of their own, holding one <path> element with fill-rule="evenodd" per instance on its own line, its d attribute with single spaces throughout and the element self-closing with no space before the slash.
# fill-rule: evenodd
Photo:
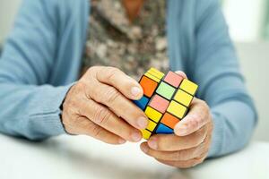
<svg viewBox="0 0 269 179">
<path fill-rule="evenodd" d="M 242 149 L 256 124 L 256 109 L 247 94 L 239 62 L 217 0 L 199 2 L 193 78 L 199 98 L 211 107 L 213 142 L 209 157 Z"/>
</svg>

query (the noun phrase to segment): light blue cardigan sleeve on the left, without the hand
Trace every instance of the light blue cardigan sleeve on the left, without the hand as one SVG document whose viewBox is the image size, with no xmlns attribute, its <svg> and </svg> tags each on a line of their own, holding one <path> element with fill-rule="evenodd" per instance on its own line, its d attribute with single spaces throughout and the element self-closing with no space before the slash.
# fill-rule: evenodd
<svg viewBox="0 0 269 179">
<path fill-rule="evenodd" d="M 58 43 L 54 13 L 45 1 L 22 2 L 0 59 L 0 132 L 31 140 L 64 132 L 59 107 L 69 86 L 47 85 Z"/>
</svg>

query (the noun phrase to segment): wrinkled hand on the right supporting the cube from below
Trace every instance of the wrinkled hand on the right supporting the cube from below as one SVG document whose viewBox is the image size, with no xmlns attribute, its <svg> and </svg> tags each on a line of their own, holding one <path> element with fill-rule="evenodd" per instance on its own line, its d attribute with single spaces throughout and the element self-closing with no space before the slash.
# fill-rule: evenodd
<svg viewBox="0 0 269 179">
<path fill-rule="evenodd" d="M 169 166 L 188 168 L 203 163 L 213 133 L 212 115 L 207 104 L 194 98 L 189 113 L 175 126 L 174 132 L 152 135 L 140 147 L 145 154 Z"/>
</svg>

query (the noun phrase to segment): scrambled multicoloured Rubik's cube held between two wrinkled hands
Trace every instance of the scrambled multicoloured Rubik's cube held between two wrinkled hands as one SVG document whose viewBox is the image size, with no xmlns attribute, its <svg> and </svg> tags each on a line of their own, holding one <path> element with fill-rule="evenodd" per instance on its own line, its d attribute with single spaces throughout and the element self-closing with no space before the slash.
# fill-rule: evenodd
<svg viewBox="0 0 269 179">
<path fill-rule="evenodd" d="M 198 86 L 175 72 L 163 72 L 151 68 L 139 81 L 143 98 L 134 101 L 145 115 L 149 124 L 142 130 L 148 140 L 154 133 L 173 133 L 174 127 L 187 115 Z"/>
</svg>

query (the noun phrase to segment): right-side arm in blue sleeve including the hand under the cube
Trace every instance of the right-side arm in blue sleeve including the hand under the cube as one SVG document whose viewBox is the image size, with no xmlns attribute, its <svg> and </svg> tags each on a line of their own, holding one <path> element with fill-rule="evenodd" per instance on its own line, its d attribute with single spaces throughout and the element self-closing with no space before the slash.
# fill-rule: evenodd
<svg viewBox="0 0 269 179">
<path fill-rule="evenodd" d="M 156 134 L 141 144 L 145 154 L 179 168 L 243 148 L 256 124 L 256 109 L 239 72 L 220 5 L 217 0 L 189 4 L 193 3 L 195 57 L 186 62 L 187 74 L 199 84 L 202 100 L 194 98 L 188 114 L 175 125 L 175 134 Z M 187 78 L 184 72 L 178 74 Z"/>
</svg>

